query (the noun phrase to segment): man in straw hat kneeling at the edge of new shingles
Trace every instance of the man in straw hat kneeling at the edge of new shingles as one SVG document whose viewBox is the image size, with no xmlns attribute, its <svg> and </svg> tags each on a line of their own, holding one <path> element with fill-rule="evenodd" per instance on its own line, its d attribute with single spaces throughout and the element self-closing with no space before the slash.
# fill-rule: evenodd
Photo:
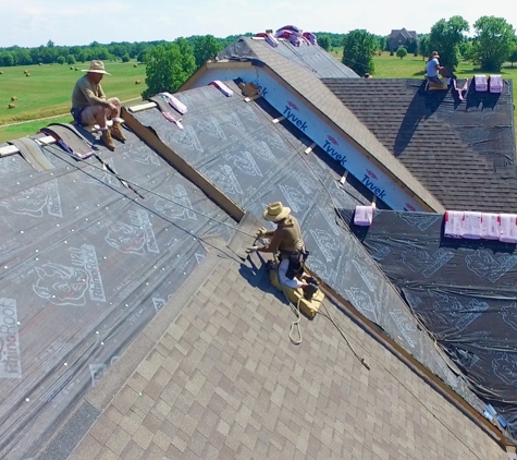
<svg viewBox="0 0 517 460">
<path fill-rule="evenodd" d="M 287 288 L 304 289 L 305 296 L 310 299 L 318 290 L 318 281 L 304 273 L 301 263 L 307 258 L 305 243 L 301 238 L 301 230 L 298 220 L 291 216 L 291 208 L 283 206 L 281 202 L 268 205 L 263 213 L 263 218 L 276 223 L 276 229 L 266 231 L 260 229 L 258 237 L 270 238 L 268 246 L 251 246 L 248 253 L 280 253 L 279 280 Z M 298 277 L 299 279 L 296 279 Z"/>
</svg>

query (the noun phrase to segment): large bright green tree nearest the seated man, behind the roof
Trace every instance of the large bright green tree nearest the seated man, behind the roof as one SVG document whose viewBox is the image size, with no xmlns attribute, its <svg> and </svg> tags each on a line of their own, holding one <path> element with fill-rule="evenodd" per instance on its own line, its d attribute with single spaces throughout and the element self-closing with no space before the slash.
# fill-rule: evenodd
<svg viewBox="0 0 517 460">
<path fill-rule="evenodd" d="M 152 48 L 147 52 L 146 61 L 147 89 L 141 93 L 144 98 L 161 92 L 174 93 L 196 70 L 192 48 L 181 38 Z"/>
</svg>

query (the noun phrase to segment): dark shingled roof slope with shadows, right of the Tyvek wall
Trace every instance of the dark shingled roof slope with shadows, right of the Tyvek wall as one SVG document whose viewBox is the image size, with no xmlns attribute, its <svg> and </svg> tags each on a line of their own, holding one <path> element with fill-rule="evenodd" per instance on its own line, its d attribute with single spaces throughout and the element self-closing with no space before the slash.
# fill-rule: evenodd
<svg viewBox="0 0 517 460">
<path fill-rule="evenodd" d="M 470 85 L 466 100 L 453 88 L 426 93 L 421 80 L 324 84 L 446 208 L 517 210 L 510 81 L 501 95 Z"/>
</svg>

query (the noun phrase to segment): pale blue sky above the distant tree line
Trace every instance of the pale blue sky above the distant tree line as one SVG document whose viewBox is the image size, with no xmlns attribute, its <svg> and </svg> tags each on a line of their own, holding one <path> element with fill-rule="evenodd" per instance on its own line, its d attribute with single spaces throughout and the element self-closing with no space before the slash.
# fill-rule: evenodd
<svg viewBox="0 0 517 460">
<path fill-rule="evenodd" d="M 406 8 L 413 4 L 413 8 Z M 392 28 L 429 32 L 442 17 L 459 14 L 469 24 L 484 14 L 503 15 L 517 26 L 516 9 L 501 12 L 485 0 L 390 2 L 386 0 L 0 0 L 0 47 L 88 45 L 96 40 L 173 40 L 212 34 L 225 37 L 294 24 L 309 32 L 346 33 L 354 28 L 387 35 Z M 508 9 L 506 9 L 508 10 Z"/>
</svg>

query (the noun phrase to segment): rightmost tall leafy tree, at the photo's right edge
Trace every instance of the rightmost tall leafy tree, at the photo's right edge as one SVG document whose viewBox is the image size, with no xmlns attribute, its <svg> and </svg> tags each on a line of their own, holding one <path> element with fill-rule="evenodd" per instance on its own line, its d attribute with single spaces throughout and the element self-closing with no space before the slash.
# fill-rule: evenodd
<svg viewBox="0 0 517 460">
<path fill-rule="evenodd" d="M 515 28 L 505 19 L 495 16 L 481 16 L 473 28 L 473 53 L 481 69 L 498 72 L 512 52 Z"/>
</svg>

